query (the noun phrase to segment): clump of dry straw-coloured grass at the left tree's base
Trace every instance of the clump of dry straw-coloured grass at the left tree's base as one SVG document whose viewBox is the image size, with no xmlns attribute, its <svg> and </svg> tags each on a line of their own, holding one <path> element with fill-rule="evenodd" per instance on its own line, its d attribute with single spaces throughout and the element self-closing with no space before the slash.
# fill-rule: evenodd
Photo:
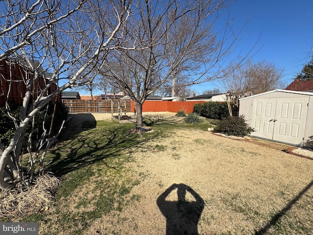
<svg viewBox="0 0 313 235">
<path fill-rule="evenodd" d="M 28 188 L 1 191 L 0 218 L 10 217 L 10 221 L 19 221 L 25 214 L 48 210 L 60 183 L 55 176 L 42 174 Z"/>
</svg>

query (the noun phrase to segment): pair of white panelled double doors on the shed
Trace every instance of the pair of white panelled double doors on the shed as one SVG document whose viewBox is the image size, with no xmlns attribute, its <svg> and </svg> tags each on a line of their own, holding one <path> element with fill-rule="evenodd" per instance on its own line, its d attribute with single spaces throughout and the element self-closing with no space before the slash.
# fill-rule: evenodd
<svg viewBox="0 0 313 235">
<path fill-rule="evenodd" d="M 303 141 L 309 97 L 260 98 L 252 103 L 253 136 L 291 144 Z"/>
</svg>

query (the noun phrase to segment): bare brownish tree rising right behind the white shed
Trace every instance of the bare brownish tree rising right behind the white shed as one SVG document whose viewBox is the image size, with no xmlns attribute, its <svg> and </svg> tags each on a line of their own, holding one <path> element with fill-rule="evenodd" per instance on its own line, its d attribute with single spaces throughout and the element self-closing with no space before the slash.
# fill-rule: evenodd
<svg viewBox="0 0 313 235">
<path fill-rule="evenodd" d="M 227 91 L 229 114 L 238 113 L 240 98 L 284 87 L 282 73 L 282 69 L 265 60 L 254 63 L 250 59 L 240 67 L 230 65 L 220 80 L 221 87 Z"/>
</svg>

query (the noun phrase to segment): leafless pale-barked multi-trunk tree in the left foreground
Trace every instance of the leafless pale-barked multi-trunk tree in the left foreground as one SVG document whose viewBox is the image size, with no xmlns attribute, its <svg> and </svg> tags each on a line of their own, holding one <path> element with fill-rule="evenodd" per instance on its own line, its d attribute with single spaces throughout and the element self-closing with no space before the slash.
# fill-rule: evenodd
<svg viewBox="0 0 313 235">
<path fill-rule="evenodd" d="M 29 0 L 12 4 L 7 0 L 0 1 L 0 8 L 0 60 L 22 64 L 29 71 L 21 79 L 26 93 L 19 119 L 10 114 L 9 104 L 6 104 L 6 112 L 16 126 L 8 146 L 0 144 L 0 188 L 6 190 L 14 186 L 12 183 L 22 180 L 19 161 L 22 143 L 26 128 L 34 123 L 36 114 L 65 89 L 90 82 L 82 78 L 88 76 L 96 62 L 103 61 L 110 51 L 134 47 L 121 48 L 114 41 L 117 38 L 119 42 L 124 40 L 123 25 L 130 17 L 131 1 Z M 35 60 L 38 63 L 33 63 Z M 81 66 L 77 67 L 78 64 Z M 45 71 L 50 76 L 45 77 L 45 86 L 35 92 L 33 85 Z M 72 71 L 70 76 L 68 71 Z M 67 77 L 66 84 L 49 94 L 51 84 L 62 77 Z M 3 95 L 9 97 L 10 94 Z M 44 135 L 36 146 L 29 139 L 28 165 L 31 168 L 37 163 L 42 165 L 45 152 L 54 139 Z M 39 150 L 43 149 L 40 157 Z"/>
</svg>

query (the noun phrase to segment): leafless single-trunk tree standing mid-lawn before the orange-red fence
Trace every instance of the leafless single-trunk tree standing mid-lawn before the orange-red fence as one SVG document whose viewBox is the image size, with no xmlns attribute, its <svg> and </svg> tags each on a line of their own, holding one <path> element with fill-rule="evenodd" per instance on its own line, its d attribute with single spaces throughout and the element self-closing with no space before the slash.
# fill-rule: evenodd
<svg viewBox="0 0 313 235">
<path fill-rule="evenodd" d="M 183 86 L 220 77 L 222 64 L 233 41 L 226 44 L 213 32 L 216 13 L 225 0 L 138 1 L 140 11 L 130 21 L 127 45 L 139 44 L 136 50 L 118 51 L 106 58 L 102 75 L 125 91 L 135 102 L 137 125 L 142 127 L 142 104 L 149 94 L 164 89 L 178 77 Z"/>
</svg>

